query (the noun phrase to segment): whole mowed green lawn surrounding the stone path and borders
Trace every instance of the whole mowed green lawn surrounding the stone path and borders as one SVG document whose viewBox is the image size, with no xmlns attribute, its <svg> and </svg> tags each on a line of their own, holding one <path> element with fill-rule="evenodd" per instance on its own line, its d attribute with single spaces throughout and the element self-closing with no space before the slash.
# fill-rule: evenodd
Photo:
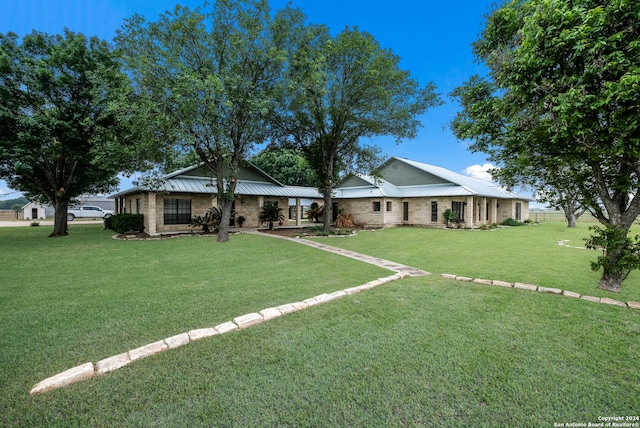
<svg viewBox="0 0 640 428">
<path fill-rule="evenodd" d="M 218 244 L 113 241 L 94 226 L 73 226 L 61 239 L 47 239 L 48 232 L 0 229 L 1 425 L 553 426 L 640 408 L 640 311 L 435 275 L 578 292 L 581 280 L 561 283 L 586 275 L 595 284 L 583 286 L 596 295 L 592 252 L 560 248 L 564 274 L 540 280 L 536 263 L 547 254 L 555 266 L 553 239 L 566 233 L 560 225 L 486 234 L 392 229 L 327 240 L 434 275 L 30 397 L 36 382 L 74 365 L 389 274 L 251 235 Z M 458 257 L 445 257 L 451 247 L 435 248 L 463 241 L 483 243 L 505 260 L 491 261 L 493 270 L 478 261 L 490 256 L 482 249 L 464 246 Z M 515 254 L 523 248 L 536 253 L 529 270 Z M 623 295 L 640 300 L 633 281 Z"/>
</svg>

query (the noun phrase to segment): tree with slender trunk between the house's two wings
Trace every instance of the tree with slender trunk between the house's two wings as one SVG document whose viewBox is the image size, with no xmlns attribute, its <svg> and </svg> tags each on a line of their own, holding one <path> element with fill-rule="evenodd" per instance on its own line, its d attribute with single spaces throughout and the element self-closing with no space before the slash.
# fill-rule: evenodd
<svg viewBox="0 0 640 428">
<path fill-rule="evenodd" d="M 371 172 L 379 150 L 365 138 L 413 138 L 419 116 L 438 104 L 434 85 L 424 86 L 399 66 L 400 58 L 370 34 L 344 29 L 332 37 L 324 26 L 298 27 L 289 47 L 289 86 L 276 137 L 301 147 L 324 195 L 324 228 L 339 173 Z"/>
</svg>

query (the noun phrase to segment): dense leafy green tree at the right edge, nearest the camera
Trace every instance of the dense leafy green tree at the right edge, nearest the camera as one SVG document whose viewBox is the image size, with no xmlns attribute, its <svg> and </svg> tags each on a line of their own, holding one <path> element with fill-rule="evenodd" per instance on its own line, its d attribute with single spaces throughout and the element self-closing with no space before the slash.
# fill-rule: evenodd
<svg viewBox="0 0 640 428">
<path fill-rule="evenodd" d="M 616 292 L 634 265 L 627 235 L 640 213 L 638 16 L 632 0 L 512 0 L 474 44 L 489 78 L 454 93 L 454 132 L 475 139 L 503 178 L 528 167 L 538 184 L 576 186 L 604 225 L 599 288 Z"/>
</svg>

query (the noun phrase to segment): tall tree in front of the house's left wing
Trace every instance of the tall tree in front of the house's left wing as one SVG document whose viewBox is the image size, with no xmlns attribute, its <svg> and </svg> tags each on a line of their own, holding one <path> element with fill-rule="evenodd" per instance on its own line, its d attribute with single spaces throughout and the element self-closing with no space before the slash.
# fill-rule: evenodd
<svg viewBox="0 0 640 428">
<path fill-rule="evenodd" d="M 266 0 L 176 6 L 156 22 L 128 19 L 116 38 L 135 85 L 125 103 L 137 112 L 148 146 L 193 151 L 216 179 L 221 242 L 229 236 L 239 166 L 266 139 L 290 11 L 274 17 Z"/>
</svg>

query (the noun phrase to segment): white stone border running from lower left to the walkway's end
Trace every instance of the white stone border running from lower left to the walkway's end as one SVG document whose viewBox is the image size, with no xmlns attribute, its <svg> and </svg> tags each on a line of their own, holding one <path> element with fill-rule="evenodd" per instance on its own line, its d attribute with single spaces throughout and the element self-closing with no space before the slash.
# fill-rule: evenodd
<svg viewBox="0 0 640 428">
<path fill-rule="evenodd" d="M 122 354 L 113 355 L 98 361 L 95 365 L 91 362 L 81 364 L 73 367 L 62 373 L 58 373 L 55 376 L 49 377 L 41 382 L 38 382 L 29 392 L 30 395 L 41 394 L 43 392 L 51 391 L 53 389 L 61 388 L 63 386 L 71 385 L 73 383 L 92 378 L 94 376 L 102 375 L 112 372 L 134 361 L 141 360 L 143 358 L 150 357 L 160 352 L 167 351 L 169 349 L 176 349 L 180 346 L 187 345 L 188 343 L 196 340 L 204 339 L 211 336 L 217 336 L 220 334 L 229 333 L 236 330 L 241 330 L 268 321 L 273 318 L 277 318 L 282 315 L 286 315 L 292 312 L 300 311 L 310 308 L 312 306 L 327 303 L 335 299 L 350 296 L 361 291 L 369 290 L 377 287 L 378 285 L 386 284 L 399 279 L 407 278 L 411 276 L 408 272 L 398 272 L 395 275 L 379 278 L 373 281 L 369 281 L 366 284 L 347 288 L 345 290 L 335 291 L 333 293 L 323 293 L 309 299 L 305 299 L 301 302 L 286 303 L 284 305 L 277 306 L 275 308 L 266 308 L 258 313 L 249 313 L 235 317 L 233 321 L 227 321 L 222 324 L 218 324 L 215 327 L 206 327 L 196 330 L 191 330 L 187 333 L 180 333 L 175 336 L 168 337 L 157 342 L 150 343 L 148 345 L 141 346 L 136 349 L 132 349 Z"/>
</svg>

